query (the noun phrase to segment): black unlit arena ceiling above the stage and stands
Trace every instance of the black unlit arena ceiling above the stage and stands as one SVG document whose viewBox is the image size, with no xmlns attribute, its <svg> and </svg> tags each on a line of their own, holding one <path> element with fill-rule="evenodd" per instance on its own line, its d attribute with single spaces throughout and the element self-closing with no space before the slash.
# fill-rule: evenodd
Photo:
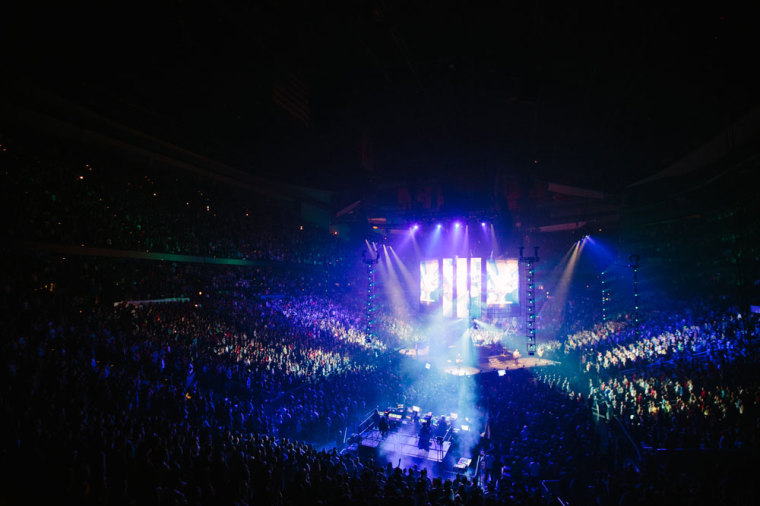
<svg viewBox="0 0 760 506">
<path fill-rule="evenodd" d="M 724 2 L 60 4 L 3 16 L 7 75 L 332 189 L 508 174 L 618 192 L 760 84 L 756 17 Z"/>
</svg>

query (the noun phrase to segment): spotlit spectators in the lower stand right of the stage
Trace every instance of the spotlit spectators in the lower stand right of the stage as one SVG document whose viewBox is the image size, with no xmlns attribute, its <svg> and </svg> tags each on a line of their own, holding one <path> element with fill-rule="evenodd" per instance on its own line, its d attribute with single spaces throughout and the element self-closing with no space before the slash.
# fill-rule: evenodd
<svg viewBox="0 0 760 506">
<path fill-rule="evenodd" d="M 646 445 L 757 448 L 758 325 L 736 308 L 699 307 L 652 313 L 638 327 L 599 324 L 559 350 L 580 368 L 577 388 L 585 383 Z"/>
</svg>

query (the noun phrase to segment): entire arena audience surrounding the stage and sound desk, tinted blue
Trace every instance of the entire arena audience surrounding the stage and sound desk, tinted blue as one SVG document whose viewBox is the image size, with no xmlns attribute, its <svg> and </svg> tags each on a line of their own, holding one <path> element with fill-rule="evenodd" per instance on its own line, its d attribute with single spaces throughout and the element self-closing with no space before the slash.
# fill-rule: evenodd
<svg viewBox="0 0 760 506">
<path fill-rule="evenodd" d="M 447 375 L 395 351 L 424 334 L 388 307 L 366 332 L 363 272 L 334 235 L 244 189 L 80 155 L 0 155 L 3 205 L 25 209 L 4 213 L 8 237 L 40 243 L 0 257 L 0 502 L 756 501 L 727 463 L 758 449 L 756 315 L 692 303 L 599 323 L 578 303 L 541 343 L 560 365 Z M 45 246 L 60 243 L 262 262 Z M 359 458 L 360 422 L 399 404 L 456 410 L 468 472 Z M 639 458 L 620 457 L 629 444 Z M 661 457 L 676 451 L 710 464 Z"/>
</svg>

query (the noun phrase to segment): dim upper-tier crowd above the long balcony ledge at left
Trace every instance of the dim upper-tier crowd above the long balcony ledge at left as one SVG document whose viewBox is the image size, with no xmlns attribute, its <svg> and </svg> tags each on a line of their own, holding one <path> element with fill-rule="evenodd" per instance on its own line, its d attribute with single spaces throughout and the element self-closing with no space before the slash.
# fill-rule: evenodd
<svg viewBox="0 0 760 506">
<path fill-rule="evenodd" d="M 345 258 L 337 236 L 251 185 L 156 170 L 75 145 L 11 142 L 0 156 L 10 239 L 319 265 Z"/>
</svg>

